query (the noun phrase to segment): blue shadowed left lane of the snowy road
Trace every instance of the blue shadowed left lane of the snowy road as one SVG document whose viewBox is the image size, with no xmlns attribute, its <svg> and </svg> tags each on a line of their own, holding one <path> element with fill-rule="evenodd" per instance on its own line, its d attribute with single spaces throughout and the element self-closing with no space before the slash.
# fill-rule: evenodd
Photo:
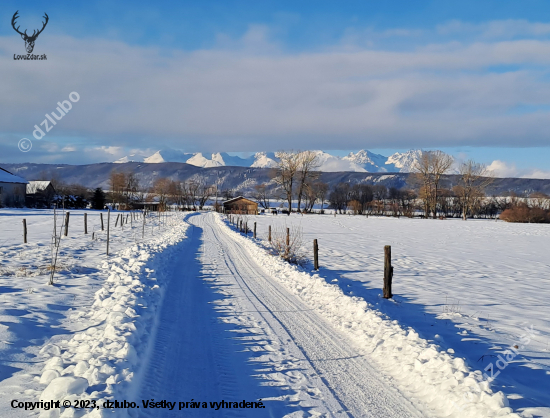
<svg viewBox="0 0 550 418">
<path fill-rule="evenodd" d="M 202 266 L 197 260 L 201 257 L 200 251 L 196 251 L 201 237 L 198 228 L 191 228 L 191 242 L 182 245 L 181 258 L 173 260 L 174 274 L 160 307 L 158 326 L 152 334 L 153 350 L 138 391 L 140 401 L 234 401 L 239 397 L 242 400 L 243 393 L 247 392 L 239 390 L 243 379 L 239 379 L 239 370 L 232 367 L 223 330 L 219 329 L 210 304 L 212 291 L 202 280 Z M 231 409 L 177 409 L 177 404 L 173 411 L 144 409 L 140 402 L 140 409 L 130 410 L 130 415 L 250 416 Z"/>
</svg>

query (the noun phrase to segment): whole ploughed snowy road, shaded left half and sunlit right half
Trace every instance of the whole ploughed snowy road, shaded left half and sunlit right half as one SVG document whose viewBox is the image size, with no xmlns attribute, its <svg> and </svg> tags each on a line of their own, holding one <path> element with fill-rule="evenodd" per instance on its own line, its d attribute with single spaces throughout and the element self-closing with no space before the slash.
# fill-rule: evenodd
<svg viewBox="0 0 550 418">
<path fill-rule="evenodd" d="M 191 215 L 187 221 L 190 242 L 172 266 L 136 398 L 262 399 L 265 405 L 186 409 L 189 416 L 429 416 L 368 355 L 270 277 L 215 215 Z M 139 413 L 158 417 L 177 411 Z"/>
</svg>

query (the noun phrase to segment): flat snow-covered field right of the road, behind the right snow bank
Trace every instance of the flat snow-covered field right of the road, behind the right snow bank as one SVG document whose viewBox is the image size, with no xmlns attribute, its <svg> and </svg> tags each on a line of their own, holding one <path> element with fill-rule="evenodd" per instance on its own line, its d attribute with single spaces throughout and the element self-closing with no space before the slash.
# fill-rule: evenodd
<svg viewBox="0 0 550 418">
<path fill-rule="evenodd" d="M 550 416 L 549 226 L 348 215 L 246 218 L 249 227 L 257 222 L 263 245 L 268 225 L 300 227 L 310 259 L 318 239 L 321 277 L 451 350 L 471 369 L 489 376 L 492 370 L 493 390 L 503 391 L 515 411 Z M 384 245 L 392 246 L 393 301 L 381 298 Z M 513 359 L 499 361 L 515 345 Z"/>
</svg>

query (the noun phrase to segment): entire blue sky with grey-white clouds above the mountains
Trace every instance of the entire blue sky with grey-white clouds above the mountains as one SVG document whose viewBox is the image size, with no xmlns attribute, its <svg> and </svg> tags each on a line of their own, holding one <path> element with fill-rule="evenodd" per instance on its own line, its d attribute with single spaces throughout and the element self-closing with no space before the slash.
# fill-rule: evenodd
<svg viewBox="0 0 550 418">
<path fill-rule="evenodd" d="M 13 59 L 16 10 L 31 32 L 48 13 L 47 61 Z M 4 1 L 0 19 L 0 162 L 439 148 L 550 176 L 547 1 Z"/>
</svg>

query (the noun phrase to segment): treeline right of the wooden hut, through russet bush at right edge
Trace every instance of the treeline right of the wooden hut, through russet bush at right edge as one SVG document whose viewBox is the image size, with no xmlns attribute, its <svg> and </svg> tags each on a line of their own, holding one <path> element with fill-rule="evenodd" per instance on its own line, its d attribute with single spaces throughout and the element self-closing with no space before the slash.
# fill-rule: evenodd
<svg viewBox="0 0 550 418">
<path fill-rule="evenodd" d="M 325 201 L 339 213 L 424 218 L 501 218 L 511 222 L 548 222 L 548 197 L 542 194 L 520 199 L 487 196 L 491 173 L 472 160 L 455 165 L 442 151 L 423 151 L 412 166 L 409 188 L 339 183 L 329 188 L 318 181 L 320 161 L 312 151 L 276 153 L 279 159 L 271 184 L 255 187 L 255 199 L 267 208 L 270 200 L 286 202 L 287 212 L 312 212 Z M 454 168 L 453 168 L 454 167 Z M 443 176 L 458 171 L 458 184 L 442 187 Z M 293 202 L 296 207 L 293 208 Z"/>
</svg>

